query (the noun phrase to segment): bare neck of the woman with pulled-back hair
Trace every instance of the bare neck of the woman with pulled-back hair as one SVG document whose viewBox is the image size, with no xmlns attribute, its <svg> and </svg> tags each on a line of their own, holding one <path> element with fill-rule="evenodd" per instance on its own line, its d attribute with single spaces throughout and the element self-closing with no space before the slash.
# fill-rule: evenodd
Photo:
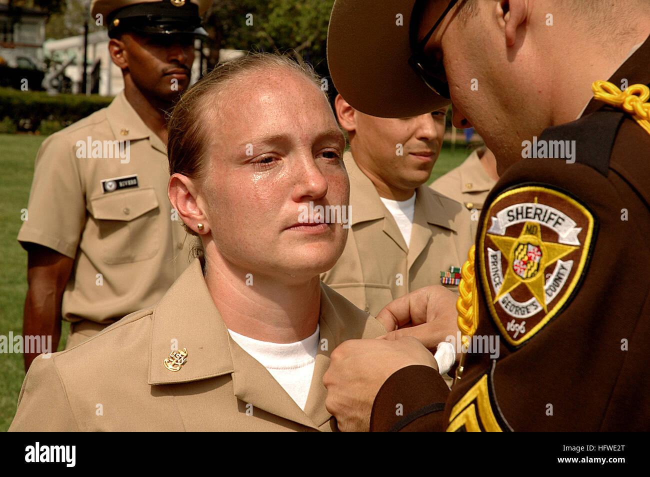
<svg viewBox="0 0 650 477">
<path fill-rule="evenodd" d="M 320 316 L 320 279 L 283 283 L 228 263 L 214 242 L 205 249 L 205 283 L 227 328 L 259 341 L 292 343 L 313 335 Z M 248 284 L 247 284 L 248 282 Z"/>
</svg>

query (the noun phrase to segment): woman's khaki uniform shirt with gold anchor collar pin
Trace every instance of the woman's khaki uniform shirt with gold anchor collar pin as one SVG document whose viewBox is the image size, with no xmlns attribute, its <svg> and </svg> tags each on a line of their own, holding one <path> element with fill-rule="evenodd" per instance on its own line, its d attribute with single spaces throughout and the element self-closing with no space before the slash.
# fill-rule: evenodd
<svg viewBox="0 0 650 477">
<path fill-rule="evenodd" d="M 12 431 L 335 430 L 322 376 L 341 342 L 385 333 L 321 284 L 320 341 L 303 411 L 229 336 L 197 260 L 153 309 L 132 313 L 29 368 Z M 172 346 L 187 350 L 173 372 Z"/>
</svg>

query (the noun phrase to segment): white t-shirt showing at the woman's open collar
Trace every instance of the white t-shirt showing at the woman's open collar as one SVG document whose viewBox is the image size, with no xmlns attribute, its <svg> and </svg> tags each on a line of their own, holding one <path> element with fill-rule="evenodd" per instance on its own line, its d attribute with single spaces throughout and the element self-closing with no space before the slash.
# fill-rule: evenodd
<svg viewBox="0 0 650 477">
<path fill-rule="evenodd" d="M 318 354 L 319 326 L 316 326 L 313 335 L 294 343 L 259 341 L 235 333 L 231 329 L 228 333 L 242 350 L 257 359 L 270 372 L 304 411 Z"/>
</svg>

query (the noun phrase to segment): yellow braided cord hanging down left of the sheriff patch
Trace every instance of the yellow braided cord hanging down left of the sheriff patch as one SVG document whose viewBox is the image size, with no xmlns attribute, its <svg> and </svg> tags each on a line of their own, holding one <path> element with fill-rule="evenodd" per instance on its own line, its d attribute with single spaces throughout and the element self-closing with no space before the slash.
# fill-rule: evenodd
<svg viewBox="0 0 650 477">
<path fill-rule="evenodd" d="M 476 328 L 478 328 L 478 296 L 476 296 L 476 281 L 474 279 L 475 250 L 475 245 L 469 249 L 467 261 L 460 270 L 461 278 L 460 283 L 458 283 L 460 297 L 456 300 L 456 310 L 458 311 L 458 329 L 462 333 L 462 346 L 460 361 L 458 368 L 456 368 L 456 381 L 461 379 L 469 341 L 474 333 L 476 333 Z"/>
</svg>

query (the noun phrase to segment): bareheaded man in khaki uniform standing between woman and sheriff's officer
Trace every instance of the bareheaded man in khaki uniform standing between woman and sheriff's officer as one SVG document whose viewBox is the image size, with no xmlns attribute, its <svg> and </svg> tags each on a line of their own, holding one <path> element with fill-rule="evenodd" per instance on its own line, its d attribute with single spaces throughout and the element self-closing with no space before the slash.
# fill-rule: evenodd
<svg viewBox="0 0 650 477">
<path fill-rule="evenodd" d="M 453 276 L 472 244 L 461 205 L 426 187 L 442 146 L 446 108 L 415 118 L 376 118 L 337 96 L 350 137 L 350 233 L 322 281 L 370 315 L 395 298 Z M 408 240 L 408 241 L 407 241 Z M 458 290 L 451 279 L 450 289 Z"/>
</svg>

